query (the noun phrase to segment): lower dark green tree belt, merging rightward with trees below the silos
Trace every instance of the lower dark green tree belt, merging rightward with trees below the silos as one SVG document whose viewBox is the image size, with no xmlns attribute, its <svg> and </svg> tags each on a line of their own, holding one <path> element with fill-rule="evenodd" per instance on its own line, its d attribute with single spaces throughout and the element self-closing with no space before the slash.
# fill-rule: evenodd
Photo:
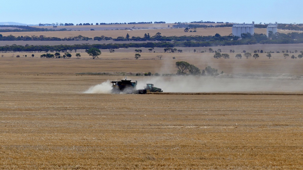
<svg viewBox="0 0 303 170">
<path fill-rule="evenodd" d="M 0 39 L 3 38 L 0 34 Z M 7 36 L 11 37 L 12 36 Z M 78 36 L 78 38 L 82 36 Z M 228 36 L 221 36 L 220 34 L 215 34 L 215 36 L 181 36 L 181 37 L 165 37 L 161 36 L 161 33 L 156 33 L 154 36 L 143 36 L 142 38 L 121 38 L 124 41 L 135 41 L 134 39 L 141 41 L 161 41 L 161 42 L 146 42 L 146 43 L 125 43 L 125 44 L 75 44 L 75 45 L 56 45 L 56 46 L 20 46 L 20 45 L 11 45 L 11 46 L 2 46 L 0 51 L 47 51 L 47 50 L 69 50 L 69 49 L 90 49 L 96 47 L 98 49 L 117 49 L 117 48 L 128 48 L 128 47 L 211 47 L 211 46 L 226 46 L 226 45 L 245 45 L 245 44 L 295 44 L 303 43 L 303 33 L 292 32 L 288 34 L 275 33 L 269 34 L 269 38 L 265 34 L 254 34 L 251 35 L 241 34 L 240 37 L 233 36 L 232 34 Z M 20 37 L 21 38 L 21 37 Z M 28 37 L 26 37 L 28 38 Z M 37 37 L 35 37 L 37 38 Z M 39 37 L 41 38 L 41 37 Z M 82 37 L 83 38 L 83 37 Z M 103 37 L 106 38 L 106 37 Z M 95 38 L 94 38 L 95 39 Z M 102 39 L 102 37 L 100 37 Z M 118 38 L 117 38 L 118 39 Z M 172 43 L 167 41 L 172 41 Z"/>
</svg>

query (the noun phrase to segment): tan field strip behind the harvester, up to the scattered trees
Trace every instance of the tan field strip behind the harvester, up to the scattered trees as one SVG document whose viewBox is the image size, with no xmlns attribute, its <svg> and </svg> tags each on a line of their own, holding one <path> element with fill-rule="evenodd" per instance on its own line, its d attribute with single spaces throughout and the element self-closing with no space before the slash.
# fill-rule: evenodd
<svg viewBox="0 0 303 170">
<path fill-rule="evenodd" d="M 300 45 L 300 44 L 298 44 Z M 272 57 L 268 59 L 266 53 L 259 53 L 259 58 L 250 57 L 246 59 L 243 53 L 229 53 L 227 50 L 230 46 L 225 46 L 229 59 L 215 59 L 214 53 L 163 53 L 163 48 L 155 49 L 156 53 L 149 53 L 147 48 L 142 48 L 141 57 L 135 59 L 135 48 L 117 49 L 115 53 L 109 53 L 108 50 L 101 50 L 102 54 L 98 58 L 92 60 L 84 50 L 77 50 L 81 54 L 79 59 L 76 58 L 75 52 L 72 52 L 70 59 L 63 58 L 40 58 L 45 53 L 1 53 L 4 57 L 0 57 L 2 72 L 5 73 L 81 73 L 81 72 L 151 72 L 160 74 L 176 73 L 175 62 L 186 61 L 194 64 L 201 70 L 207 66 L 218 69 L 218 73 L 223 71 L 227 74 L 238 73 L 268 73 L 268 74 L 291 74 L 296 76 L 303 75 L 302 59 L 291 59 L 291 55 L 296 57 L 300 53 L 289 53 L 289 57 L 284 59 L 283 53 L 272 53 Z M 205 47 L 209 48 L 209 47 Z M 218 47 L 219 48 L 219 47 Z M 221 48 L 221 47 L 220 47 Z M 284 47 L 283 47 L 284 48 Z M 198 51 L 199 48 L 197 48 Z M 215 50 L 215 48 L 213 47 Z M 223 48 L 222 48 L 223 49 Z M 291 48 L 286 48 L 291 49 Z M 187 49 L 188 50 L 188 49 Z M 186 48 L 184 51 L 187 51 Z M 202 49 L 203 50 L 203 49 Z M 128 52 L 123 52 L 128 51 Z M 131 52 L 133 51 L 133 52 Z M 239 50 L 240 51 L 240 50 Z M 299 51 L 299 49 L 298 49 Z M 224 51 L 223 51 L 224 52 Z M 253 51 L 249 51 L 254 54 Z M 34 58 L 31 55 L 34 54 Z M 54 53 L 53 53 L 54 54 Z M 60 53 L 63 55 L 64 53 Z M 235 58 L 236 54 L 242 54 L 241 59 Z M 12 57 L 14 55 L 14 57 Z M 20 58 L 16 58 L 20 55 Z M 27 57 L 25 57 L 27 55 Z M 157 57 L 162 55 L 161 60 Z M 173 59 L 175 57 L 176 59 Z M 33 64 L 35 63 L 35 64 Z"/>
</svg>

